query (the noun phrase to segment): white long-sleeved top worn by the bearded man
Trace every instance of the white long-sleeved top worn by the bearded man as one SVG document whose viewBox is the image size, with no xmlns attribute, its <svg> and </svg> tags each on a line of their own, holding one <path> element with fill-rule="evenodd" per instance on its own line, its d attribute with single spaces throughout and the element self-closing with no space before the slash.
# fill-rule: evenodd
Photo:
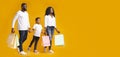
<svg viewBox="0 0 120 57">
<path fill-rule="evenodd" d="M 29 16 L 26 11 L 23 12 L 20 10 L 17 12 L 17 14 L 15 15 L 13 22 L 12 22 L 12 28 L 14 28 L 16 20 L 18 20 L 18 29 L 19 30 L 28 30 L 28 28 L 30 28 Z"/>
</svg>

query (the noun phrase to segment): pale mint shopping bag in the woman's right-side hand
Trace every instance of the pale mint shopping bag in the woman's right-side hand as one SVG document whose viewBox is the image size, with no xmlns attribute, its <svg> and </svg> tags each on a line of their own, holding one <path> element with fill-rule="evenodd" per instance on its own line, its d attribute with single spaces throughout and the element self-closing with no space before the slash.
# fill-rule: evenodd
<svg viewBox="0 0 120 57">
<path fill-rule="evenodd" d="M 56 46 L 63 46 L 64 45 L 64 35 L 63 34 L 55 35 L 54 41 L 55 41 Z"/>
</svg>

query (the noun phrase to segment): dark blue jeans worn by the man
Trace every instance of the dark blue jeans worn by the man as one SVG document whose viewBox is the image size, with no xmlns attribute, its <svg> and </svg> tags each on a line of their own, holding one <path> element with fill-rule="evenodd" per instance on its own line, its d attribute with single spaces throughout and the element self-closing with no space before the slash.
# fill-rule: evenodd
<svg viewBox="0 0 120 57">
<path fill-rule="evenodd" d="M 19 38 L 19 43 L 20 45 L 18 46 L 20 52 L 23 51 L 23 47 L 22 44 L 25 42 L 25 40 L 27 39 L 27 35 L 28 35 L 28 30 L 19 30 L 19 34 L 20 34 L 20 38 Z"/>
</svg>

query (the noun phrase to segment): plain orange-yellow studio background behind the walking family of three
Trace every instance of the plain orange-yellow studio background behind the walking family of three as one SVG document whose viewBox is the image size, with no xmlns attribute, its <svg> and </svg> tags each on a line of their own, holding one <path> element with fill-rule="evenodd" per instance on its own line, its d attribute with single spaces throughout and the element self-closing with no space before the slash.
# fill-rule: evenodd
<svg viewBox="0 0 120 57">
<path fill-rule="evenodd" d="M 31 27 L 36 17 L 41 17 L 48 6 L 55 9 L 57 27 L 65 37 L 65 46 L 53 46 L 54 54 L 40 54 L 33 47 L 28 57 L 120 57 L 120 1 L 118 0 L 0 0 L 0 56 L 21 57 L 17 50 L 7 47 L 12 19 L 22 2 L 28 5 Z M 16 23 L 16 33 L 17 23 Z M 55 32 L 56 34 L 56 32 Z M 24 50 L 32 39 L 29 33 Z"/>
</svg>

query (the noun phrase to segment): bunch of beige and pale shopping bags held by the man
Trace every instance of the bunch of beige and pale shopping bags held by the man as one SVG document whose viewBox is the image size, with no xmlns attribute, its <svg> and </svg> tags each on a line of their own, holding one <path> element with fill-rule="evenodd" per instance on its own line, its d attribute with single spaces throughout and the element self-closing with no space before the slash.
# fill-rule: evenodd
<svg viewBox="0 0 120 57">
<path fill-rule="evenodd" d="M 19 40 L 18 40 L 18 36 L 16 34 L 10 34 L 8 36 L 8 47 L 16 49 L 17 46 L 19 46 Z"/>
</svg>

